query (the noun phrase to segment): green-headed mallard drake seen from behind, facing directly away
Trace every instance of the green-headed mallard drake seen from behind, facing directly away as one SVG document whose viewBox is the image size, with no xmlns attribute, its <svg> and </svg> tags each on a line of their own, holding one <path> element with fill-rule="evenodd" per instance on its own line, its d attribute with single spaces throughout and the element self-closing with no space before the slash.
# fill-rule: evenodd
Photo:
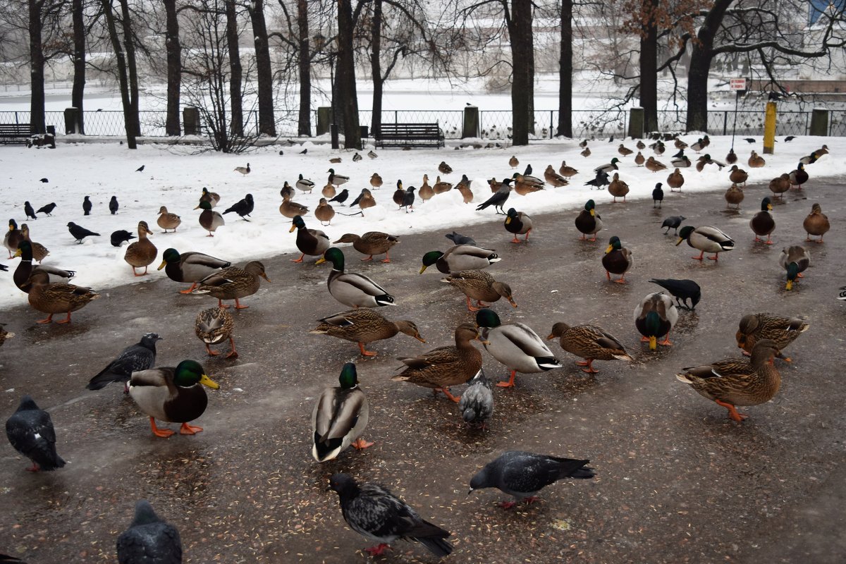
<svg viewBox="0 0 846 564">
<path fill-rule="evenodd" d="M 337 458 L 349 446 L 373 446 L 359 438 L 370 419 L 370 406 L 359 388 L 355 364 L 344 364 L 338 381 L 340 386 L 323 390 L 311 412 L 311 456 L 319 463 Z"/>
</svg>

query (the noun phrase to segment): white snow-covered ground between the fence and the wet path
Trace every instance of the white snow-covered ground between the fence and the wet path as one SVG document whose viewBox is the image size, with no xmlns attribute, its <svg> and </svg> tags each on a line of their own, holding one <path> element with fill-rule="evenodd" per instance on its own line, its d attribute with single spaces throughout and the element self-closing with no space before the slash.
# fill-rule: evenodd
<svg viewBox="0 0 846 564">
<path fill-rule="evenodd" d="M 693 142 L 695 137 L 688 136 L 684 140 Z M 752 183 L 768 182 L 782 172 L 789 172 L 796 166 L 799 157 L 817 149 L 823 143 L 828 145 L 832 155 L 843 155 L 846 152 L 846 139 L 802 137 L 785 143 L 779 138 L 776 145 L 777 154 L 766 156 L 766 167 L 750 169 L 745 166 L 746 159 L 750 149 L 761 150 L 760 138 L 755 145 L 747 145 L 743 140 L 738 140 L 735 148 L 741 157 L 740 165 L 750 173 L 749 182 Z M 527 147 L 501 149 L 453 150 L 448 146 L 447 149 L 439 151 L 379 150 L 376 151 L 378 158 L 373 160 L 365 155 L 365 148 L 365 151 L 362 151 L 364 159 L 360 162 L 353 162 L 354 151 L 332 151 L 328 145 L 315 145 L 310 142 L 306 142 L 303 147 L 283 147 L 283 156 L 279 155 L 278 145 L 237 156 L 213 152 L 190 154 L 189 151 L 193 150 L 163 145 L 141 145 L 137 151 L 128 151 L 125 145 L 118 144 L 59 144 L 55 150 L 5 145 L 0 146 L 0 207 L 6 211 L 8 218 L 14 218 L 18 224 L 28 223 L 32 240 L 50 249 L 50 255 L 44 260 L 45 264 L 73 269 L 77 271 L 75 283 L 105 290 L 124 283 L 145 283 L 164 277 L 164 271 L 156 271 L 155 267 L 161 261 L 162 251 L 169 247 L 178 249 L 179 252 L 201 251 L 231 260 L 233 263 L 295 252 L 296 235 L 288 233 L 291 220 L 281 216 L 278 211 L 282 201 L 279 189 L 285 180 L 293 185 L 299 173 L 312 179 L 316 183 L 314 192 L 298 193 L 295 201 L 308 205 L 310 210 L 314 211 L 321 198 L 320 190 L 327 183 L 329 167 L 334 167 L 339 174 L 350 177 L 349 183 L 343 185 L 343 188 L 350 191 L 348 204 L 362 188 L 370 188 L 369 179 L 373 172 L 379 172 L 384 179 L 382 189 L 373 192 L 378 205 L 365 211 L 364 217 L 338 214 L 332 220 L 331 226 L 321 227 L 311 212 L 305 216 L 308 227 L 320 228 L 335 240 L 343 233 L 360 234 L 371 230 L 399 236 L 430 230 L 446 233 L 453 228 L 459 232 L 472 233 L 470 226 L 475 223 L 501 222 L 503 219 L 502 216 L 496 216 L 492 208 L 475 211 L 475 205 L 486 200 L 491 194 L 486 179 L 510 177 L 515 170 L 523 172 L 527 164 L 531 164 L 535 176 L 542 178 L 547 165 L 552 164 L 552 167 L 558 170 L 562 160 L 566 160 L 569 165 L 580 170 L 569 186 L 547 188 L 527 196 L 512 193 L 506 208 L 514 206 L 519 211 L 529 213 L 563 211 L 560 223 L 537 226 L 532 236 L 551 237 L 559 230 L 575 235 L 573 218 L 576 210 L 584 205 L 586 200 L 596 200 L 596 209 L 601 214 L 603 209 L 612 205 L 612 197 L 607 190 L 591 190 L 591 187 L 585 186 L 584 183 L 594 177 L 594 167 L 610 162 L 614 156 L 620 157 L 617 152 L 618 145 L 619 141 L 592 141 L 592 155 L 588 158 L 580 156 L 578 140 L 546 141 Z M 634 149 L 634 142 L 631 140 L 627 140 L 625 145 Z M 722 160 L 729 145 L 730 138 L 713 137 L 708 151 L 714 158 Z M 307 148 L 308 153 L 299 155 L 303 148 Z M 667 145 L 667 153 L 659 157 L 659 160 L 668 165 L 669 155 L 673 152 L 675 151 L 670 143 Z M 688 154 L 695 158 L 691 151 L 688 151 Z M 508 166 L 508 159 L 512 155 L 519 159 L 517 169 Z M 651 156 L 653 153 L 647 148 L 644 155 Z M 814 183 L 819 182 L 821 178 L 846 173 L 846 164 L 842 158 L 838 159 L 832 155 L 824 156 L 819 162 L 808 167 L 808 194 L 813 194 Z M 333 156 L 340 156 L 343 162 L 330 164 L 329 158 Z M 672 194 L 667 189 L 667 172 L 653 173 L 643 167 L 635 167 L 634 156 L 620 158 L 620 178 L 629 183 L 630 199 L 651 198 L 656 182 L 665 183 L 665 205 L 672 206 L 674 199 L 683 197 L 678 193 Z M 437 165 L 441 161 L 448 162 L 455 171 L 443 177 L 443 180 L 457 183 L 462 173 L 472 179 L 475 194 L 473 205 L 464 205 L 459 192 L 453 189 L 436 195 L 426 204 L 418 200 L 413 213 L 398 211 L 392 200 L 397 180 L 402 179 L 406 187 L 420 186 L 423 174 L 427 173 L 430 183 L 434 183 L 438 176 Z M 234 167 L 244 166 L 247 162 L 250 162 L 252 169 L 249 175 L 242 176 L 233 170 Z M 145 165 L 144 172 L 135 172 L 141 165 Z M 686 178 L 684 192 L 722 190 L 730 185 L 728 168 L 718 171 L 717 167 L 711 166 L 699 173 L 694 167 L 690 167 L 683 171 Z M 40 178 L 47 178 L 49 182 L 41 183 Z M 215 237 L 206 237 L 206 231 L 198 222 L 200 210 L 193 210 L 204 186 L 221 194 L 220 205 L 216 208 L 221 212 L 245 194 L 253 194 L 255 211 L 252 221 L 244 222 L 233 213 L 227 214 L 224 216 L 226 225 L 217 230 Z M 83 216 L 82 200 L 85 195 L 90 195 L 94 204 L 91 216 Z M 120 210 L 115 216 L 110 215 L 108 211 L 108 201 L 113 195 L 117 195 L 120 202 Z M 36 210 L 50 202 L 55 202 L 58 206 L 52 217 L 39 214 L 37 221 L 27 222 L 24 213 L 25 200 L 29 200 Z M 157 211 L 161 205 L 168 206 L 168 211 L 182 216 L 182 226 L 177 233 L 163 234 L 157 227 Z M 747 199 L 743 214 L 751 215 L 757 208 L 755 202 Z M 335 210 L 351 212 L 348 207 L 342 206 L 336 206 Z M 357 208 L 354 211 L 357 211 Z M 141 220 L 146 221 L 155 232 L 151 241 L 156 244 L 159 257 L 152 265 L 150 276 L 135 278 L 129 265 L 124 262 L 126 244 L 120 249 L 113 247 L 109 243 L 109 235 L 118 229 L 135 233 L 137 223 Z M 692 224 L 698 223 L 695 217 L 690 217 L 689 220 Z M 68 222 L 75 222 L 101 233 L 102 236 L 86 238 L 84 244 L 76 244 L 68 233 Z M 600 237 L 604 236 L 601 234 Z M 502 241 L 485 243 L 496 248 L 508 244 L 507 241 L 507 233 L 503 232 Z M 445 250 L 448 243 L 442 236 L 433 237 L 432 248 Z M 9 272 L 0 273 L 0 304 L 26 304 L 26 294 L 14 287 L 11 277 L 18 260 L 5 260 L 6 255 L 3 255 L 2 259 L 0 264 L 9 266 Z"/>
</svg>

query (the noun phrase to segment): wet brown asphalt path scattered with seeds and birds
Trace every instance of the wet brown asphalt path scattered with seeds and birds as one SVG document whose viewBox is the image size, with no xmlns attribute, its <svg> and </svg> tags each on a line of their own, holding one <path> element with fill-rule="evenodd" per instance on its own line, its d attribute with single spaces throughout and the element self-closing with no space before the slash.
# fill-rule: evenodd
<svg viewBox="0 0 846 564">
<path fill-rule="evenodd" d="M 503 321 L 520 320 L 544 337 L 558 320 L 595 323 L 638 360 L 597 362 L 600 373 L 589 376 L 551 341 L 565 368 L 519 375 L 515 389 L 497 389 L 488 431 L 465 427 L 443 397 L 390 381 L 396 357 L 450 344 L 454 327 L 472 319 L 463 295 L 438 282 L 440 273 L 417 274 L 424 252 L 448 248 L 442 233 L 404 236 L 390 265 L 360 263 L 346 251 L 349 270 L 397 298 L 399 307 L 382 313 L 414 320 L 428 341 L 400 334 L 376 342 L 376 359 L 360 359 L 354 343 L 305 332 L 344 307 L 327 293 L 329 266 L 294 265 L 295 255 L 265 260 L 272 283 L 262 282 L 244 299 L 250 309 L 236 314 L 237 360 L 206 357 L 193 322 L 214 301 L 180 295 L 182 286 L 167 278 L 105 291 L 71 326 L 36 326 L 41 314 L 8 309 L 3 320 L 18 335 L 0 348 L 0 415 L 6 419 L 30 393 L 50 410 L 69 465 L 29 474 L 11 446 L 0 447 L 0 552 L 35 564 L 115 561 L 115 539 L 146 497 L 179 528 L 186 562 L 365 561 L 360 550 L 370 544 L 346 527 L 337 496 L 326 491 L 328 476 L 344 471 L 382 482 L 452 531 L 455 550 L 446 561 L 843 561 L 846 304 L 836 296 L 846 285 L 844 189 L 843 178 L 812 181 L 776 202 L 772 246 L 753 244 L 748 227 L 769 194 L 764 186 L 747 189 L 739 213 L 725 211 L 722 193 L 667 193 L 663 211 L 651 202 L 611 205 L 602 194 L 597 209 L 609 228 L 596 243 L 577 240 L 576 211 L 536 216 L 528 244 L 510 244 L 499 220 L 457 227 L 503 256 L 488 271 L 510 283 L 519 304 L 493 306 Z M 808 244 L 810 269 L 785 292 L 777 255 L 805 238 L 801 223 L 814 201 L 832 230 L 825 244 Z M 514 204 L 519 209 L 516 195 Z M 676 239 L 659 228 L 676 214 L 721 227 L 737 249 L 719 264 L 691 260 L 694 249 L 673 246 Z M 607 282 L 600 264 L 614 234 L 634 253 L 627 285 Z M 157 235 L 160 250 L 166 238 Z M 634 305 L 660 289 L 651 277 L 690 277 L 703 288 L 695 314 L 681 313 L 675 345 L 656 353 L 640 344 L 632 321 Z M 806 315 L 811 327 L 788 348 L 794 363 L 778 364 L 781 392 L 735 424 L 674 374 L 737 355 L 738 320 L 755 311 Z M 165 338 L 158 364 L 199 359 L 221 385 L 196 421 L 204 432 L 159 439 L 122 386 L 85 390 L 91 375 L 146 331 Z M 507 370 L 484 356 L 487 374 L 504 379 Z M 365 437 L 376 445 L 318 465 L 310 457 L 311 408 L 351 360 L 371 404 Z M 468 497 L 471 475 L 511 449 L 590 458 L 597 478 L 559 482 L 541 503 L 510 512 L 496 506 L 504 499 L 497 490 Z M 436 559 L 398 542 L 376 560 Z"/>
</svg>

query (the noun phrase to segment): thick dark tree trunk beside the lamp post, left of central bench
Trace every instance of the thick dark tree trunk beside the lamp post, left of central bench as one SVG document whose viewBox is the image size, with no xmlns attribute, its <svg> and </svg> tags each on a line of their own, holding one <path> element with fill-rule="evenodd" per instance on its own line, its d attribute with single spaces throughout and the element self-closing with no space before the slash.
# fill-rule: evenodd
<svg viewBox="0 0 846 564">
<path fill-rule="evenodd" d="M 353 51 L 353 7 L 350 0 L 338 0 L 338 74 L 335 94 L 341 94 L 343 117 L 343 145 L 347 149 L 361 148 L 359 101 L 355 88 L 355 57 Z M 332 96 L 334 98 L 334 96 Z"/>
</svg>

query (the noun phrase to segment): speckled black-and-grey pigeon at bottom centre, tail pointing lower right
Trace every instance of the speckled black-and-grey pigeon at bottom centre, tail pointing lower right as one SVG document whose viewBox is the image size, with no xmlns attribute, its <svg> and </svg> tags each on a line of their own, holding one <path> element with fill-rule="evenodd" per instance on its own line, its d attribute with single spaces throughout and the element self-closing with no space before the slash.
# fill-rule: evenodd
<svg viewBox="0 0 846 564">
<path fill-rule="evenodd" d="M 420 518 L 414 509 L 382 485 L 357 484 L 349 474 L 332 474 L 329 488 L 338 493 L 343 520 L 356 533 L 379 544 L 365 549 L 380 556 L 396 539 L 415 540 L 438 557 L 453 551 L 451 533 Z"/>
</svg>

